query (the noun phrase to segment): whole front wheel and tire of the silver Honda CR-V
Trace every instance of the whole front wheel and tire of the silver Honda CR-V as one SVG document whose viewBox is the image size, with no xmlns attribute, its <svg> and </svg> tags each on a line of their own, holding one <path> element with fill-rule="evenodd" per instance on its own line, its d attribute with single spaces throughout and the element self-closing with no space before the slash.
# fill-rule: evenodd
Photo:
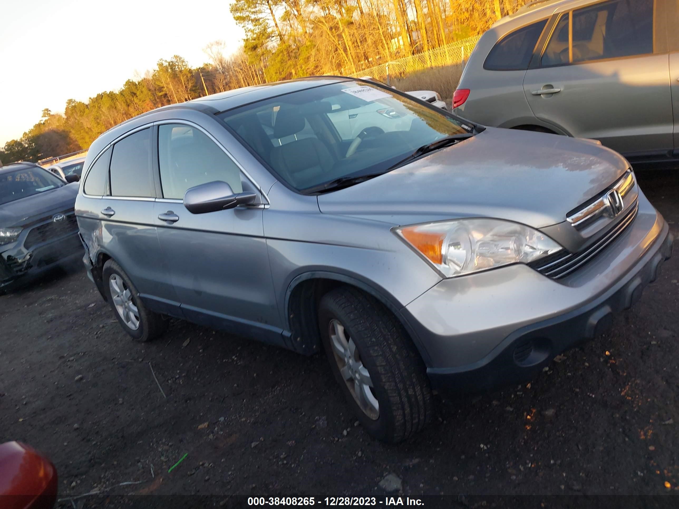
<svg viewBox="0 0 679 509">
<path fill-rule="evenodd" d="M 320 299 L 318 325 L 331 370 L 373 438 L 396 443 L 424 428 L 434 413 L 426 367 L 388 309 L 345 286 Z"/>
</svg>

